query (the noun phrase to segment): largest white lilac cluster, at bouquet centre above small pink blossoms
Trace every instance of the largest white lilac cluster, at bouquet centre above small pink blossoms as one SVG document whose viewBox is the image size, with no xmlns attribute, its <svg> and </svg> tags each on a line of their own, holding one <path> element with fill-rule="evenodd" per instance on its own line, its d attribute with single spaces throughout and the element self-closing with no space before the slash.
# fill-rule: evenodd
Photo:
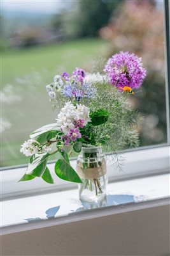
<svg viewBox="0 0 170 256">
<path fill-rule="evenodd" d="M 71 129 L 77 128 L 78 124 L 87 125 L 91 121 L 89 113 L 89 108 L 83 104 L 76 104 L 74 106 L 71 101 L 66 102 L 58 115 L 57 125 L 67 135 Z"/>
</svg>

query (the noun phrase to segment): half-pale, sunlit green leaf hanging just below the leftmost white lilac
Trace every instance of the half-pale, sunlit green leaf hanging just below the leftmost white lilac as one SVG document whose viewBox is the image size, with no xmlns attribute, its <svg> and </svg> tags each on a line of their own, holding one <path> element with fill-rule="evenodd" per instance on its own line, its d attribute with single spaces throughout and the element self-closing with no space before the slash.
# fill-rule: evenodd
<svg viewBox="0 0 170 256">
<path fill-rule="evenodd" d="M 46 162 L 48 160 L 48 153 L 39 154 L 34 158 L 31 158 L 27 168 L 26 174 L 31 174 L 36 177 L 41 177 L 46 168 Z"/>
</svg>

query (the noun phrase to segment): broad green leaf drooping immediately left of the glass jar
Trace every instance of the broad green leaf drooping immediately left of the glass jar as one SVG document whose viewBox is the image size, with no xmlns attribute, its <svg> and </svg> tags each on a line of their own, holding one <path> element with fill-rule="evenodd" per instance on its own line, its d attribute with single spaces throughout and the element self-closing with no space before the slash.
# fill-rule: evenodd
<svg viewBox="0 0 170 256">
<path fill-rule="evenodd" d="M 55 173 L 62 180 L 82 183 L 78 174 L 74 171 L 71 165 L 66 162 L 65 159 L 59 159 L 55 163 Z"/>
</svg>

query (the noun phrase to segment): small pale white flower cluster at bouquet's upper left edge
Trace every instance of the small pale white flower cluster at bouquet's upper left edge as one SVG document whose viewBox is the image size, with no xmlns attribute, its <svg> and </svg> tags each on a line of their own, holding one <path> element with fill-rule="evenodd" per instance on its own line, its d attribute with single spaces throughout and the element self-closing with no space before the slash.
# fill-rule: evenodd
<svg viewBox="0 0 170 256">
<path fill-rule="evenodd" d="M 64 86 L 62 77 L 60 75 L 53 77 L 53 83 L 45 86 L 46 92 L 48 92 L 50 99 L 56 98 L 56 93 L 60 92 L 62 86 Z"/>
</svg>

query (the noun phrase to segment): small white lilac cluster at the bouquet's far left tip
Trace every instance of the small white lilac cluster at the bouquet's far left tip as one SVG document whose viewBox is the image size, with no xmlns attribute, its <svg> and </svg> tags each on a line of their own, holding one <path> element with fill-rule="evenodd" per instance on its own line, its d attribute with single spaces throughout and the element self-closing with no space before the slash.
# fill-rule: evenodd
<svg viewBox="0 0 170 256">
<path fill-rule="evenodd" d="M 25 156 L 49 152 L 50 150 L 52 150 L 50 145 L 42 147 L 38 141 L 32 139 L 25 141 L 20 148 L 20 152 Z"/>
</svg>

